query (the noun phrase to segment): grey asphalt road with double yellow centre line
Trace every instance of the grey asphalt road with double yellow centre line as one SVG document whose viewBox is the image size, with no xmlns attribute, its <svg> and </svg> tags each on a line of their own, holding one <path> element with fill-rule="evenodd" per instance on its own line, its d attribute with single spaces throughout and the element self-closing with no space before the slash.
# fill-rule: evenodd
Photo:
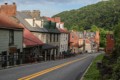
<svg viewBox="0 0 120 80">
<path fill-rule="evenodd" d="M 56 61 L 0 70 L 0 80 L 80 80 L 91 61 L 100 53 L 81 54 Z"/>
</svg>

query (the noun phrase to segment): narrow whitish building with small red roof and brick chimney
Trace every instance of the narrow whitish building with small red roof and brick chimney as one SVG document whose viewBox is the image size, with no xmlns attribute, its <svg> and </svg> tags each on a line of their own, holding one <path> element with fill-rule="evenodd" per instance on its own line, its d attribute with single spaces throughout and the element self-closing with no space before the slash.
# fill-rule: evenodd
<svg viewBox="0 0 120 80">
<path fill-rule="evenodd" d="M 60 56 L 63 57 L 64 54 L 68 53 L 68 40 L 69 32 L 64 28 L 64 23 L 60 22 L 60 18 L 55 18 L 56 27 L 60 31 Z"/>
</svg>

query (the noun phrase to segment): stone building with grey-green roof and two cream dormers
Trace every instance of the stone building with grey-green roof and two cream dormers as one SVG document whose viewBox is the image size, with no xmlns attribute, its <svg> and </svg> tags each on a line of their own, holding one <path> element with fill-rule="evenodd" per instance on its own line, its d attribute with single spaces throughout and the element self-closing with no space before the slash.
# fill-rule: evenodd
<svg viewBox="0 0 120 80">
<path fill-rule="evenodd" d="M 32 12 L 30 12 L 32 13 Z M 37 14 L 38 11 L 34 14 Z M 32 13 L 33 15 L 33 13 Z M 59 34 L 52 21 L 47 18 L 31 16 L 28 11 L 17 12 L 17 18 L 29 29 L 33 35 L 41 40 L 43 45 L 44 60 L 56 59 L 59 54 Z"/>
</svg>

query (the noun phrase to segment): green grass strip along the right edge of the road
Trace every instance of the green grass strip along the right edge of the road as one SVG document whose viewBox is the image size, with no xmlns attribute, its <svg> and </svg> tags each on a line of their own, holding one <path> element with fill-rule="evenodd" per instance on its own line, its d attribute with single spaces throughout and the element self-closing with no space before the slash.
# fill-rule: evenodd
<svg viewBox="0 0 120 80">
<path fill-rule="evenodd" d="M 104 54 L 100 54 L 93 60 L 93 63 L 88 69 L 87 73 L 85 74 L 83 80 L 100 80 L 100 73 L 99 70 L 97 69 L 96 63 L 102 60 L 103 56 Z"/>
</svg>

